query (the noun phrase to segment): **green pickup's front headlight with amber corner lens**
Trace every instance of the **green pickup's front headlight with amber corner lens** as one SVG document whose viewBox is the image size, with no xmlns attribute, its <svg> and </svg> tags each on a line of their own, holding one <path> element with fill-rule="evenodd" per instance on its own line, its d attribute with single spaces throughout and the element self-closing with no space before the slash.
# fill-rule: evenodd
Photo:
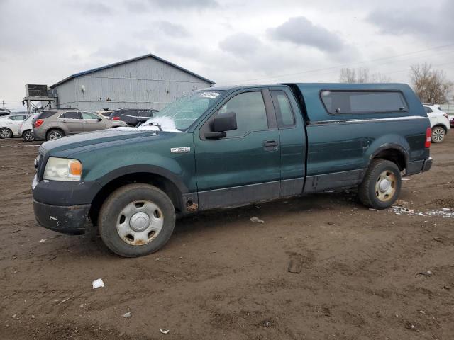
<svg viewBox="0 0 454 340">
<path fill-rule="evenodd" d="M 82 163 L 77 159 L 49 157 L 43 179 L 51 181 L 80 181 Z"/>
</svg>

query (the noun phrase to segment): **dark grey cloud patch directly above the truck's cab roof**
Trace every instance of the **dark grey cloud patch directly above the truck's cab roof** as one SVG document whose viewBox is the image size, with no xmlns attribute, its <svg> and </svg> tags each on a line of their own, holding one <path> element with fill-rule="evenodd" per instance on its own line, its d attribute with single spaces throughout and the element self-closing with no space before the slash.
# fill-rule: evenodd
<svg viewBox="0 0 454 340">
<path fill-rule="evenodd" d="M 304 16 L 289 18 L 267 33 L 275 40 L 293 42 L 296 45 L 316 47 L 323 52 L 340 52 L 345 48 L 341 38 L 322 26 L 314 25 Z"/>
</svg>

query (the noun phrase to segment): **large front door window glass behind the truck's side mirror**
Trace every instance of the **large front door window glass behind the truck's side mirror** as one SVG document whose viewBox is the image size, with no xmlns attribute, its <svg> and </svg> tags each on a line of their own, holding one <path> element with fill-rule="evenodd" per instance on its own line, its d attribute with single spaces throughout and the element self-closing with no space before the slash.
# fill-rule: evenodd
<svg viewBox="0 0 454 340">
<path fill-rule="evenodd" d="M 238 137 L 250 131 L 268 129 L 265 102 L 260 91 L 245 92 L 234 96 L 219 109 L 219 113 L 228 112 L 236 113 L 238 128 L 226 131 L 227 137 Z"/>
</svg>

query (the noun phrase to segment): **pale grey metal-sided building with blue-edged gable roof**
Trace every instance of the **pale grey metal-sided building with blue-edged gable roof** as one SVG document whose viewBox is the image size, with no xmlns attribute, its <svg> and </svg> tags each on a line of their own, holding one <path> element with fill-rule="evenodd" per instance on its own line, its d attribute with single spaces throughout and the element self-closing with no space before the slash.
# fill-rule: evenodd
<svg viewBox="0 0 454 340">
<path fill-rule="evenodd" d="M 57 94 L 57 108 L 160 110 L 184 94 L 213 85 L 214 81 L 149 54 L 73 74 L 50 88 Z"/>
</svg>

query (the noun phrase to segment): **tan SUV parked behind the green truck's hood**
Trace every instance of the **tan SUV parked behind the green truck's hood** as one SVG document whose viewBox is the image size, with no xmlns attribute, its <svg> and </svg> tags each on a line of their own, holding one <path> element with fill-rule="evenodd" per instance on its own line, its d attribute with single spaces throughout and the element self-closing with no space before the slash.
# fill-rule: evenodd
<svg viewBox="0 0 454 340">
<path fill-rule="evenodd" d="M 60 109 L 43 111 L 35 118 L 33 135 L 36 140 L 56 140 L 80 132 L 91 132 L 126 126 L 126 123 L 109 120 L 96 113 Z"/>
</svg>

